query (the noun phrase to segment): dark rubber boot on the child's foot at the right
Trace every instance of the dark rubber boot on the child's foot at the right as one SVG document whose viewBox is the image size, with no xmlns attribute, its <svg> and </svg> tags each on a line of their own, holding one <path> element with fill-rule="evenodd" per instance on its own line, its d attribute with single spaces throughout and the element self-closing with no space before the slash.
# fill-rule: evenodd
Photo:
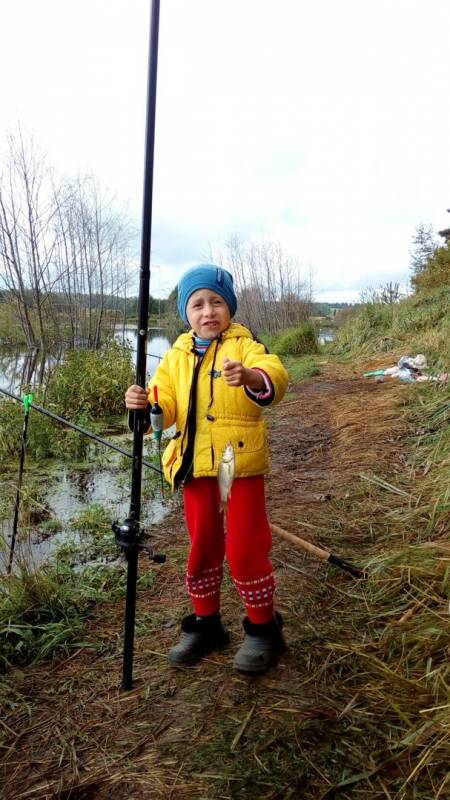
<svg viewBox="0 0 450 800">
<path fill-rule="evenodd" d="M 283 618 L 278 611 L 270 622 L 256 625 L 244 619 L 245 638 L 234 658 L 234 668 L 249 675 L 262 675 L 286 651 L 281 632 Z"/>
</svg>

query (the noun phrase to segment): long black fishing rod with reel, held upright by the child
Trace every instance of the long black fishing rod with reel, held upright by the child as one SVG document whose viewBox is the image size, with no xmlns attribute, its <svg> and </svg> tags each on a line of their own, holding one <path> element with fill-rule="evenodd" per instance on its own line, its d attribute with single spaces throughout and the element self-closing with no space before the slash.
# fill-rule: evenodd
<svg viewBox="0 0 450 800">
<path fill-rule="evenodd" d="M 141 263 L 139 276 L 139 316 L 136 350 L 136 383 L 145 389 L 147 367 L 148 307 L 150 292 L 150 252 L 152 238 L 153 161 L 155 151 L 156 76 L 158 69 L 159 0 L 152 0 L 150 12 L 150 44 L 147 84 L 147 120 L 145 133 L 144 194 L 142 203 Z M 127 597 L 125 605 L 125 630 L 123 644 L 122 688 L 133 686 L 133 645 L 136 613 L 136 581 L 140 544 L 142 444 L 144 437 L 144 411 L 134 412 L 133 460 L 131 466 L 130 512 L 121 524 L 114 523 L 116 540 L 124 550 L 128 562 Z M 156 562 L 165 556 L 154 555 Z"/>
</svg>

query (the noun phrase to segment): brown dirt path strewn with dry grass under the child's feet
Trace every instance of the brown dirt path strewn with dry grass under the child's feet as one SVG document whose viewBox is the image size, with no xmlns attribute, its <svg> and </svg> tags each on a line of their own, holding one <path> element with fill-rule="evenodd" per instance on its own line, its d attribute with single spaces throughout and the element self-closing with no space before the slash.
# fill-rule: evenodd
<svg viewBox="0 0 450 800">
<path fill-rule="evenodd" d="M 290 387 L 269 414 L 269 514 L 272 522 L 358 563 L 372 539 L 368 531 L 355 538 L 346 509 L 361 491 L 361 473 L 401 468 L 407 387 L 364 382 L 348 366 L 321 369 L 320 376 Z M 141 559 L 154 585 L 138 597 L 135 689 L 123 694 L 118 688 L 123 603 L 104 605 L 89 626 L 100 650 L 81 643 L 59 665 L 12 676 L 17 695 L 11 690 L 1 722 L 0 796 L 331 797 L 339 768 L 335 742 L 346 731 L 352 685 L 333 678 L 338 667 L 330 662 L 325 631 L 330 614 L 341 613 L 340 598 L 351 591 L 352 579 L 276 540 L 277 602 L 289 644 L 278 667 L 259 679 L 233 672 L 242 609 L 226 580 L 223 614 L 232 646 L 194 669 L 174 671 L 165 654 L 189 610 L 181 510 L 154 534 L 155 549 L 168 560 L 149 567 Z M 345 758 L 352 766 L 351 745 Z M 355 770 L 360 766 L 355 761 Z"/>
</svg>

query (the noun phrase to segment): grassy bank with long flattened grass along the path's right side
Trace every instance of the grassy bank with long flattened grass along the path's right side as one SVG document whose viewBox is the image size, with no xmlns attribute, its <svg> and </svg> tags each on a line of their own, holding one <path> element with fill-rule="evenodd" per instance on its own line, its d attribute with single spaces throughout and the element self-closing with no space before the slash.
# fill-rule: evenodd
<svg viewBox="0 0 450 800">
<path fill-rule="evenodd" d="M 387 351 L 422 352 L 432 368 L 449 371 L 449 347 L 442 289 L 362 307 L 334 352 L 380 364 Z M 450 791 L 450 384 L 408 390 L 404 464 L 391 474 L 362 475 L 351 505 L 335 510 L 336 526 L 355 541 L 370 533 L 370 577 L 344 600 L 339 627 L 322 635 L 347 680 L 351 675 L 366 737 L 367 722 L 376 721 L 366 771 L 343 780 L 341 790 L 362 783 L 370 797 L 378 788 L 386 797 L 437 800 Z M 363 759 L 367 739 L 357 726 L 349 735 Z"/>
</svg>

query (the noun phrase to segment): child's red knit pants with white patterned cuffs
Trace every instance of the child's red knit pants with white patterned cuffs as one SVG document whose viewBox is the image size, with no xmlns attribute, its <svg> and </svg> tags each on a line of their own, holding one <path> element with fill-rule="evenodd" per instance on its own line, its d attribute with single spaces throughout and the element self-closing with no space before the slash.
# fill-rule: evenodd
<svg viewBox="0 0 450 800">
<path fill-rule="evenodd" d="M 186 524 L 191 538 L 186 584 L 198 616 L 220 607 L 226 556 L 247 616 L 263 623 L 273 618 L 275 583 L 269 552 L 272 534 L 266 515 L 264 477 L 236 478 L 228 498 L 227 532 L 219 513 L 216 478 L 193 478 L 184 487 Z"/>
</svg>

